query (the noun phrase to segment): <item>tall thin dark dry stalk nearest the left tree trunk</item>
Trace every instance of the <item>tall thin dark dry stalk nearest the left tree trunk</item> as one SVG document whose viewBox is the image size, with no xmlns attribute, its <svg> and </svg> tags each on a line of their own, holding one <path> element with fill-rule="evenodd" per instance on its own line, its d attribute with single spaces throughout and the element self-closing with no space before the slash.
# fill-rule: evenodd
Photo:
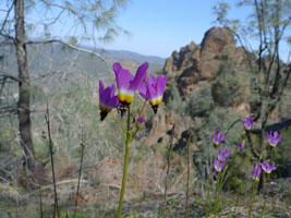
<svg viewBox="0 0 291 218">
<path fill-rule="evenodd" d="M 56 185 L 56 178 L 54 178 L 54 166 L 53 166 L 53 152 L 52 152 L 52 141 L 50 134 L 50 121 L 49 121 L 49 109 L 47 104 L 47 114 L 45 116 L 46 122 L 48 125 L 48 136 L 49 136 L 49 152 L 50 152 L 50 161 L 51 161 L 51 171 L 52 171 L 52 182 L 53 182 L 53 192 L 54 192 L 54 207 L 53 207 L 53 217 L 56 213 L 58 217 L 60 217 L 60 210 L 58 205 L 58 193 L 57 193 L 57 185 Z"/>
</svg>

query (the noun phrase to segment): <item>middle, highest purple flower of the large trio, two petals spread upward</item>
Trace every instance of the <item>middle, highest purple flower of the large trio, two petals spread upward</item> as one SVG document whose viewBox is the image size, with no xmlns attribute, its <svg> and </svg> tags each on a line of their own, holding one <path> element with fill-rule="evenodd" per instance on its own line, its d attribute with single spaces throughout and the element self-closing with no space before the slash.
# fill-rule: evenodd
<svg viewBox="0 0 291 218">
<path fill-rule="evenodd" d="M 135 90 L 146 77 L 147 68 L 148 63 L 143 63 L 133 76 L 129 70 L 122 69 L 119 62 L 113 64 L 119 90 L 118 99 L 122 105 L 130 105 L 133 101 Z"/>
</svg>

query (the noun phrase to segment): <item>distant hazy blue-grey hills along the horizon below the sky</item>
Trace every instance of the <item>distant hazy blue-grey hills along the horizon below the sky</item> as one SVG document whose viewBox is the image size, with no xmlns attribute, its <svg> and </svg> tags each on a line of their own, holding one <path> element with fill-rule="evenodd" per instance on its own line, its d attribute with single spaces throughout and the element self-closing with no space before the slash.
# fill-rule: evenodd
<svg viewBox="0 0 291 218">
<path fill-rule="evenodd" d="M 16 64 L 13 46 L 7 43 L 0 44 L 0 69 L 8 73 L 15 74 Z M 126 63 L 130 70 L 134 70 L 143 62 L 149 62 L 149 71 L 162 69 L 165 59 L 154 56 L 125 50 L 102 50 L 93 47 L 82 46 L 92 51 L 97 51 L 106 60 L 110 70 L 113 62 Z M 28 45 L 29 72 L 32 75 L 44 75 L 56 71 L 68 71 L 68 73 L 102 74 L 107 72 L 106 65 L 98 58 L 92 55 L 65 48 L 61 45 Z"/>
</svg>

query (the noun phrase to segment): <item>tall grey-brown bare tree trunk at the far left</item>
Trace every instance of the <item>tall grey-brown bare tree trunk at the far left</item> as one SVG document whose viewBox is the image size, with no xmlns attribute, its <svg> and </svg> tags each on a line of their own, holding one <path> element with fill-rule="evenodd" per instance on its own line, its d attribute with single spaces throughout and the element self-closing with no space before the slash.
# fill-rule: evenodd
<svg viewBox="0 0 291 218">
<path fill-rule="evenodd" d="M 24 150 L 25 164 L 29 170 L 35 166 L 35 150 L 32 138 L 31 122 L 31 81 L 27 69 L 26 35 L 24 26 L 24 0 L 14 1 L 15 10 L 15 48 L 19 68 L 19 104 L 17 116 L 21 146 Z"/>
</svg>

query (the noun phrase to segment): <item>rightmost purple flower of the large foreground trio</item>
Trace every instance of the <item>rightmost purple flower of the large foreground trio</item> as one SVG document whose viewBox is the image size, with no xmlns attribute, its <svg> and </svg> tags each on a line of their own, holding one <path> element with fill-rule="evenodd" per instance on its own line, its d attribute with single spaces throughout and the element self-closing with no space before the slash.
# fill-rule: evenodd
<svg viewBox="0 0 291 218">
<path fill-rule="evenodd" d="M 162 100 L 168 77 L 168 75 L 165 75 L 163 77 L 158 75 L 158 77 L 155 78 L 154 75 L 148 74 L 146 84 L 142 83 L 138 88 L 141 96 L 148 100 L 155 113 L 157 112 L 158 106 Z"/>
</svg>

